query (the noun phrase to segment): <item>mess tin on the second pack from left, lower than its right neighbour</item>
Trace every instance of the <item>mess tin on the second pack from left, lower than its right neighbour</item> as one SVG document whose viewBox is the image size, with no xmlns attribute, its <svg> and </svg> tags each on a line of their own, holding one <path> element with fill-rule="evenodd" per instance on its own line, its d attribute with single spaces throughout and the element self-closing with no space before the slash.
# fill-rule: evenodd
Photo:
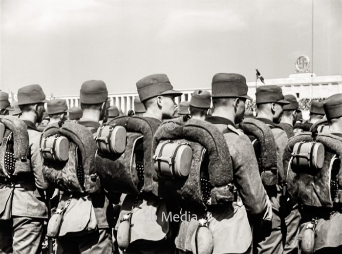
<svg viewBox="0 0 342 254">
<path fill-rule="evenodd" d="M 69 159 L 69 141 L 64 136 L 54 135 L 43 138 L 40 150 L 47 161 L 65 162 Z"/>
</svg>

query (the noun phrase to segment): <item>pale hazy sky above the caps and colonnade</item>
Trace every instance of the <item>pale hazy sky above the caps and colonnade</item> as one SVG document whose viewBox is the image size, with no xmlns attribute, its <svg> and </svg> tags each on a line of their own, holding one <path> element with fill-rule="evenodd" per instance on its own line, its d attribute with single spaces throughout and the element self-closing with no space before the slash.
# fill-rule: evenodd
<svg viewBox="0 0 342 254">
<path fill-rule="evenodd" d="M 342 74 L 341 0 L 0 0 L 0 89 L 40 84 L 110 93 L 166 73 L 176 89 L 208 88 L 218 72 L 287 78 L 300 55 L 316 75 Z"/>
</svg>

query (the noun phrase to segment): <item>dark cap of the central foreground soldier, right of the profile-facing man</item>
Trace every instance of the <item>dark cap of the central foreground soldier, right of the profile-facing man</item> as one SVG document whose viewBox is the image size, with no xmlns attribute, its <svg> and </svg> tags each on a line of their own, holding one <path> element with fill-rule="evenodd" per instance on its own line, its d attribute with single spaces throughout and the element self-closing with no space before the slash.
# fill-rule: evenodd
<svg viewBox="0 0 342 254">
<path fill-rule="evenodd" d="M 238 97 L 252 100 L 247 95 L 248 86 L 246 78 L 236 73 L 217 73 L 213 77 L 212 97 L 229 98 Z"/>
</svg>

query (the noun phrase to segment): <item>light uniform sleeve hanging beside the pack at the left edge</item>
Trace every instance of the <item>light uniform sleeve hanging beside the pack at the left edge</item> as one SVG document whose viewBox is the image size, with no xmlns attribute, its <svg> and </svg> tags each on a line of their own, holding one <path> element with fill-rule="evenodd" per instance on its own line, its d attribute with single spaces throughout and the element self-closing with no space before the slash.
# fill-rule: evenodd
<svg viewBox="0 0 342 254">
<path fill-rule="evenodd" d="M 48 186 L 43 177 L 43 158 L 39 151 L 39 142 L 42 133 L 35 130 L 28 130 L 28 135 L 31 148 L 31 170 L 35 178 L 36 187 L 46 190 Z"/>
</svg>

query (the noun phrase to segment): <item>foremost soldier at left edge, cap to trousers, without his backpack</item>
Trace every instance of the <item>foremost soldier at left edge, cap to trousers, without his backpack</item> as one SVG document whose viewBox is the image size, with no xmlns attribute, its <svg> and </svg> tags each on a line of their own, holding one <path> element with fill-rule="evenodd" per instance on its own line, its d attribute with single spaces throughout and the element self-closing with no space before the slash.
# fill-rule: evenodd
<svg viewBox="0 0 342 254">
<path fill-rule="evenodd" d="M 40 148 L 41 133 L 36 124 L 42 121 L 45 94 L 40 85 L 18 90 L 21 120 L 27 126 L 31 171 L 0 180 L 0 253 L 40 253 L 47 219 Z M 9 210 L 8 220 L 3 211 Z"/>
</svg>

